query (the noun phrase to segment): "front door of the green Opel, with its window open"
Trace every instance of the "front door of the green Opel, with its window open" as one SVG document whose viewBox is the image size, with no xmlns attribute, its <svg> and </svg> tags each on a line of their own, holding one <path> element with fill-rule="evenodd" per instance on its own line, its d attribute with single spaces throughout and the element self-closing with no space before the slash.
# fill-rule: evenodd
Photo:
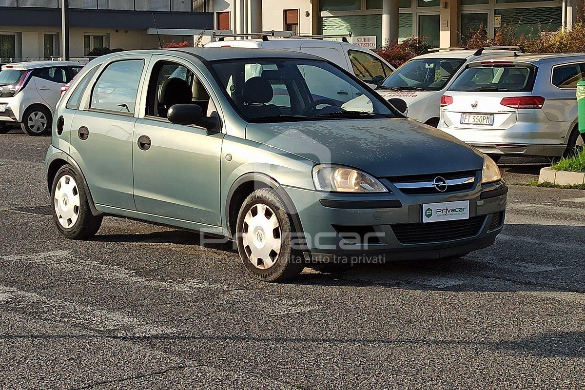
<svg viewBox="0 0 585 390">
<path fill-rule="evenodd" d="M 133 138 L 136 210 L 221 226 L 219 174 L 224 134 L 174 125 L 166 118 L 173 104 L 199 105 L 202 112 L 211 114 L 216 111 L 214 102 L 190 64 L 161 58 L 152 65 L 151 74 L 145 115 L 136 121 Z M 169 92 L 165 83 L 171 78 L 175 80 Z M 180 98 L 177 91 L 188 91 L 185 85 L 192 94 Z"/>
</svg>

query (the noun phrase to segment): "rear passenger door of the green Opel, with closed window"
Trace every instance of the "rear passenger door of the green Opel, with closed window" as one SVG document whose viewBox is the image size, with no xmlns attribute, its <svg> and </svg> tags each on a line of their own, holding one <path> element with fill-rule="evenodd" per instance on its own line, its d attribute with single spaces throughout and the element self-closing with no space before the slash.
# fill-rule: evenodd
<svg viewBox="0 0 585 390">
<path fill-rule="evenodd" d="M 71 124 L 71 157 L 97 205 L 135 210 L 132 134 L 140 80 L 150 56 L 116 60 L 98 71 Z"/>
</svg>

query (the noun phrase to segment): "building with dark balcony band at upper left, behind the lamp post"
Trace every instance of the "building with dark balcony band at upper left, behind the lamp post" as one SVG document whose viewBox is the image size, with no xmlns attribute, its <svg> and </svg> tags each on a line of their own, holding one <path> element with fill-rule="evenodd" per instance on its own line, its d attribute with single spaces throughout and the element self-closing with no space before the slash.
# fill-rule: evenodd
<svg viewBox="0 0 585 390">
<path fill-rule="evenodd" d="M 209 0 L 69 0 L 70 56 L 94 49 L 152 49 L 163 28 L 209 29 Z M 163 44 L 192 36 L 161 36 Z M 49 59 L 62 55 L 60 0 L 0 0 L 0 60 Z"/>
</svg>

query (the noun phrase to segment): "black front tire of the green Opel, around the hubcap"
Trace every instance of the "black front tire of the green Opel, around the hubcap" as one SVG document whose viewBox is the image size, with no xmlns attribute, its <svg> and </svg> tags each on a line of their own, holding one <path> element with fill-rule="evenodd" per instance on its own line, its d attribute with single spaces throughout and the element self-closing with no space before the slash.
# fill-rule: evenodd
<svg viewBox="0 0 585 390">
<path fill-rule="evenodd" d="M 247 230 L 250 228 L 249 226 L 244 226 L 246 215 L 258 203 L 268 206 L 269 212 L 274 211 L 274 215 L 278 220 L 278 227 L 280 227 L 280 253 L 274 260 L 274 264 L 266 269 L 261 269 L 252 263 L 249 257 L 249 253 L 251 253 L 250 245 L 245 247 L 243 242 L 243 234 L 247 234 Z M 245 199 L 238 213 L 236 227 L 236 242 L 238 243 L 240 258 L 246 270 L 254 278 L 265 282 L 284 282 L 297 277 L 305 268 L 302 253 L 293 250 L 291 246 L 292 222 L 290 215 L 288 215 L 283 199 L 273 189 L 257 189 Z"/>
</svg>

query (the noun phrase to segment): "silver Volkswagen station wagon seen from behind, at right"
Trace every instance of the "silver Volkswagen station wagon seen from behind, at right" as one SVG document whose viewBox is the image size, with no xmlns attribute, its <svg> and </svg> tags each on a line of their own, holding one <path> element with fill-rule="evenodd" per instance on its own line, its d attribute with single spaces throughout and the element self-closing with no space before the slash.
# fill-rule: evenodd
<svg viewBox="0 0 585 390">
<path fill-rule="evenodd" d="M 474 61 L 442 97 L 439 129 L 495 157 L 572 154 L 583 147 L 581 80 L 585 53 Z"/>
</svg>

